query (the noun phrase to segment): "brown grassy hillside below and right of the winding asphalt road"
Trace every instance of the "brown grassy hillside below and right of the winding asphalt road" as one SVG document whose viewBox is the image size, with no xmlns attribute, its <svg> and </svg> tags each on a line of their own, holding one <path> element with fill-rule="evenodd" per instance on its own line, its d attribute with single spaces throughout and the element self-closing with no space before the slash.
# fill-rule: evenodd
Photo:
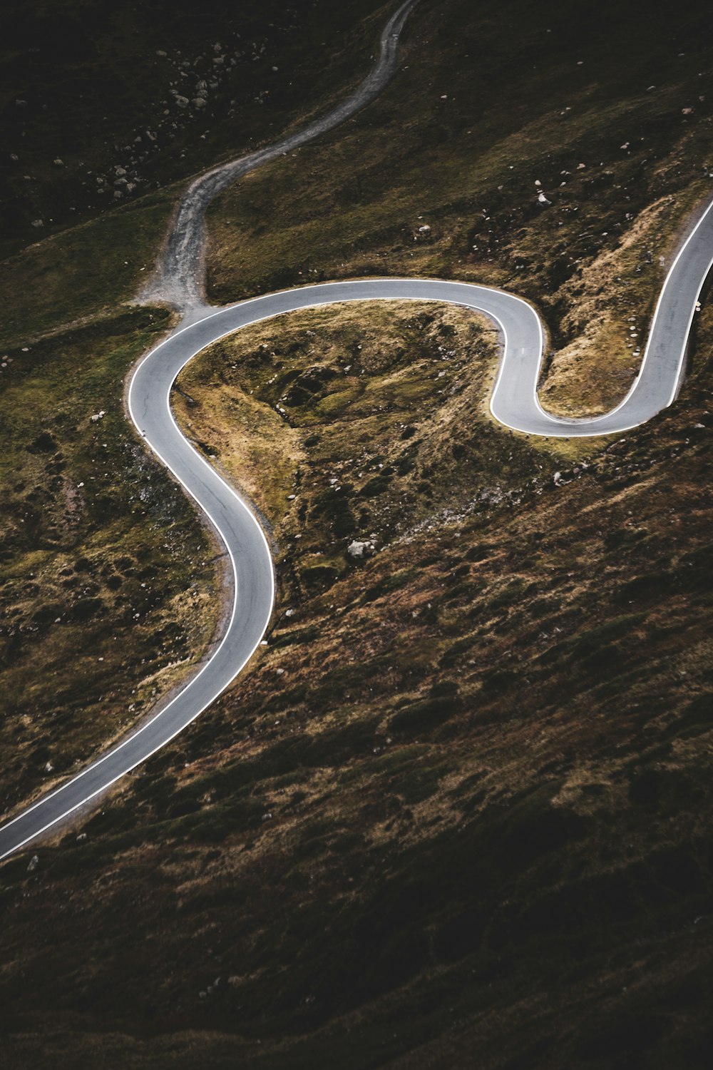
<svg viewBox="0 0 713 1070">
<path fill-rule="evenodd" d="M 363 311 L 184 380 L 248 486 L 283 442 L 280 613 L 80 840 L 4 867 L 11 1066 L 703 1065 L 713 318 L 680 401 L 575 464 L 454 389 L 492 354 L 465 312 Z"/>
</svg>

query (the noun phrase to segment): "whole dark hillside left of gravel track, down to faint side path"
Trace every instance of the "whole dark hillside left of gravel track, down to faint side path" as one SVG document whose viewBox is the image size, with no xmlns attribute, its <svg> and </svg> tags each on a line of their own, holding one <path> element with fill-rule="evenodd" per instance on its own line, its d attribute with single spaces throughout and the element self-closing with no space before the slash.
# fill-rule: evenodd
<svg viewBox="0 0 713 1070">
<path fill-rule="evenodd" d="M 274 140 L 343 94 L 368 68 L 386 12 L 325 0 L 235 10 L 180 2 L 168 16 L 160 0 L 5 4 L 0 345 L 25 345 L 131 299 L 184 180 Z M 198 100 L 199 82 L 205 107 L 174 104 L 171 89 Z"/>
</svg>

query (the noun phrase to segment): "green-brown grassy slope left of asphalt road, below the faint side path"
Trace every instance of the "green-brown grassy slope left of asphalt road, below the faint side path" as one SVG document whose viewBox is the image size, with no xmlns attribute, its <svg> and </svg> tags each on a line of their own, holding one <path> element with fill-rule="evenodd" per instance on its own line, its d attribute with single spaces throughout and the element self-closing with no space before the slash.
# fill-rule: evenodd
<svg viewBox="0 0 713 1070">
<path fill-rule="evenodd" d="M 216 625 L 210 540 L 122 407 L 167 323 L 127 311 L 3 360 L 3 810 L 134 723 Z"/>
</svg>

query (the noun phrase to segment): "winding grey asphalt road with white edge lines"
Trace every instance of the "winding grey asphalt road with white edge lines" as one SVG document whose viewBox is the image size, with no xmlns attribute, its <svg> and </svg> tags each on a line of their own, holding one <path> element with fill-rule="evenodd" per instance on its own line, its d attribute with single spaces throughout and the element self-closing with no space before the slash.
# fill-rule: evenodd
<svg viewBox="0 0 713 1070">
<path fill-rule="evenodd" d="M 410 3 L 402 5 L 397 16 L 405 18 L 404 13 L 410 6 Z M 392 25 L 393 19 L 389 26 Z M 389 33 L 386 46 L 383 39 L 382 47 L 383 51 L 386 47 L 389 56 L 393 55 L 393 39 Z M 170 394 L 175 377 L 197 353 L 243 326 L 301 308 L 344 301 L 448 302 L 483 312 L 499 330 L 502 355 L 491 398 L 496 419 L 531 434 L 609 434 L 645 423 L 676 397 L 684 372 L 696 302 L 712 264 L 713 202 L 701 211 L 669 271 L 632 389 L 616 409 L 594 419 L 551 416 L 540 407 L 537 397 L 543 357 L 540 318 L 531 305 L 500 290 L 438 279 L 366 279 L 299 287 L 208 310 L 201 306 L 197 286 L 184 288 L 187 300 L 183 307 L 188 323 L 140 363 L 130 382 L 128 406 L 148 445 L 195 499 L 227 549 L 233 585 L 230 622 L 211 660 L 160 713 L 0 828 L 0 859 L 105 792 L 177 735 L 235 678 L 267 628 L 275 582 L 262 529 L 245 502 L 184 439 L 171 413 Z"/>
</svg>

